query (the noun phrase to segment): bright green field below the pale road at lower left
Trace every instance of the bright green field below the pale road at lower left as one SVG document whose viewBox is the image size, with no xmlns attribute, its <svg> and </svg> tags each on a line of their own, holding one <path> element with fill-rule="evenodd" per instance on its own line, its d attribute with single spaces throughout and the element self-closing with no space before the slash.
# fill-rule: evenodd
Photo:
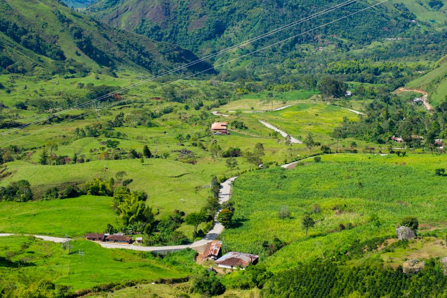
<svg viewBox="0 0 447 298">
<path fill-rule="evenodd" d="M 126 280 L 185 278 L 195 266 L 193 251 L 174 253 L 161 260 L 150 253 L 104 249 L 85 240 L 71 241 L 71 254 L 61 244 L 26 236 L 0 237 L 0 247 L 3 285 L 50 280 L 76 291 Z M 83 250 L 83 258 L 76 253 L 79 250 Z"/>
</svg>

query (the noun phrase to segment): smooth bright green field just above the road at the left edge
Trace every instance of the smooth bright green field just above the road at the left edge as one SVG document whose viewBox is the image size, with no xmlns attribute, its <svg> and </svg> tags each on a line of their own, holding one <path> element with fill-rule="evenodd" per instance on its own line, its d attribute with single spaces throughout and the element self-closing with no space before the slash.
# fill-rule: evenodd
<svg viewBox="0 0 447 298">
<path fill-rule="evenodd" d="M 102 232 L 117 216 L 110 197 L 81 196 L 30 202 L 0 202 L 0 231 L 69 237 Z"/>
</svg>

